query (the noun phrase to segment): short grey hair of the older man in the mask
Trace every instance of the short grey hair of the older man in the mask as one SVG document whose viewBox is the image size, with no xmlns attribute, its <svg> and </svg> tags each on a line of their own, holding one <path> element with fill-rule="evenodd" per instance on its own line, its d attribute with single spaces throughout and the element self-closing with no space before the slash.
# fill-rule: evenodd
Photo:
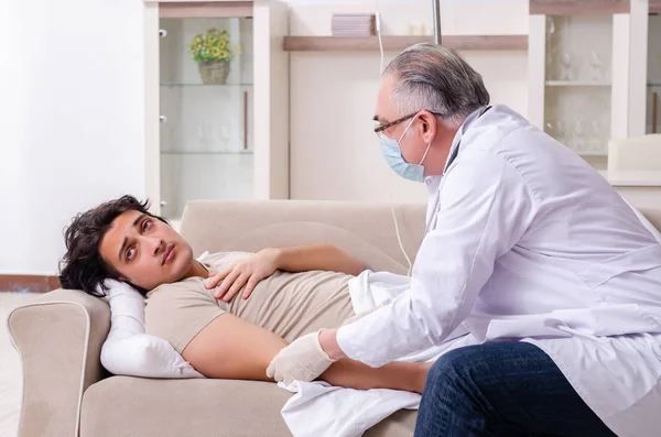
<svg viewBox="0 0 661 437">
<path fill-rule="evenodd" d="M 415 44 L 400 53 L 383 72 L 394 80 L 391 100 L 403 117 L 427 110 L 456 128 L 476 109 L 489 105 L 481 76 L 455 51 Z"/>
</svg>

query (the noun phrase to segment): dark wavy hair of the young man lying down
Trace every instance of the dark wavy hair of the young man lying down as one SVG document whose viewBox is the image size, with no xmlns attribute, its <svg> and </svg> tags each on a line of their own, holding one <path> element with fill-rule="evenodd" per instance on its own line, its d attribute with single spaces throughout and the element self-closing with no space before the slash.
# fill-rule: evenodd
<svg viewBox="0 0 661 437">
<path fill-rule="evenodd" d="M 64 231 L 66 253 L 59 262 L 59 283 L 63 288 L 82 289 L 96 297 L 102 297 L 108 289 L 102 281 L 118 280 L 120 274 L 108 264 L 99 252 L 99 243 L 112 220 L 126 211 L 136 210 L 154 217 L 165 223 L 162 217 L 148 211 L 149 200 L 140 201 L 133 196 L 122 196 L 107 201 L 86 212 L 78 214 Z M 102 293 L 96 289 L 101 284 Z M 131 284 L 133 285 L 133 284 Z M 142 294 L 147 289 L 133 285 Z"/>
</svg>

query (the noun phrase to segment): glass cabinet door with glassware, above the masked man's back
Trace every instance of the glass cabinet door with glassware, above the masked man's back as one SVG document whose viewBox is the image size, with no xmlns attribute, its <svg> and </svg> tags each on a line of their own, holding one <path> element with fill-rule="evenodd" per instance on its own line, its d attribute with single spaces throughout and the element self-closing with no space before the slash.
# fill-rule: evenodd
<svg viewBox="0 0 661 437">
<path fill-rule="evenodd" d="M 544 130 L 605 166 L 611 132 L 613 17 L 546 17 Z"/>
</svg>

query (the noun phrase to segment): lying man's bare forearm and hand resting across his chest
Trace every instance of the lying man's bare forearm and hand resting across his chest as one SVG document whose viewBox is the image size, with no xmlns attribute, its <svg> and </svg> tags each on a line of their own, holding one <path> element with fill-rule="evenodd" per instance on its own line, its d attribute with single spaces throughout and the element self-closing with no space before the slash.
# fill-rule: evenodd
<svg viewBox="0 0 661 437">
<path fill-rule="evenodd" d="M 327 270 L 357 275 L 365 270 L 360 261 L 348 252 L 332 244 L 311 244 L 293 248 L 263 249 L 221 272 L 212 273 L 206 282 L 207 289 L 216 286 L 214 296 L 229 302 L 243 286 L 242 297 L 248 298 L 254 286 L 277 270 L 307 272 Z"/>
</svg>

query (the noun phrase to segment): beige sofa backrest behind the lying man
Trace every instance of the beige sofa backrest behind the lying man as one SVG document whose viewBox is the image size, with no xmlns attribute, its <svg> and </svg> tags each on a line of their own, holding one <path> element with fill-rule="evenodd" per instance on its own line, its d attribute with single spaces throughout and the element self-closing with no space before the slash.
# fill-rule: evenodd
<svg viewBox="0 0 661 437">
<path fill-rule="evenodd" d="M 402 244 L 413 262 L 425 226 L 425 205 L 395 205 Z M 407 273 L 389 204 L 317 200 L 223 201 L 186 205 L 181 233 L 204 251 L 254 252 L 268 247 L 332 243 L 368 269 Z"/>
</svg>

